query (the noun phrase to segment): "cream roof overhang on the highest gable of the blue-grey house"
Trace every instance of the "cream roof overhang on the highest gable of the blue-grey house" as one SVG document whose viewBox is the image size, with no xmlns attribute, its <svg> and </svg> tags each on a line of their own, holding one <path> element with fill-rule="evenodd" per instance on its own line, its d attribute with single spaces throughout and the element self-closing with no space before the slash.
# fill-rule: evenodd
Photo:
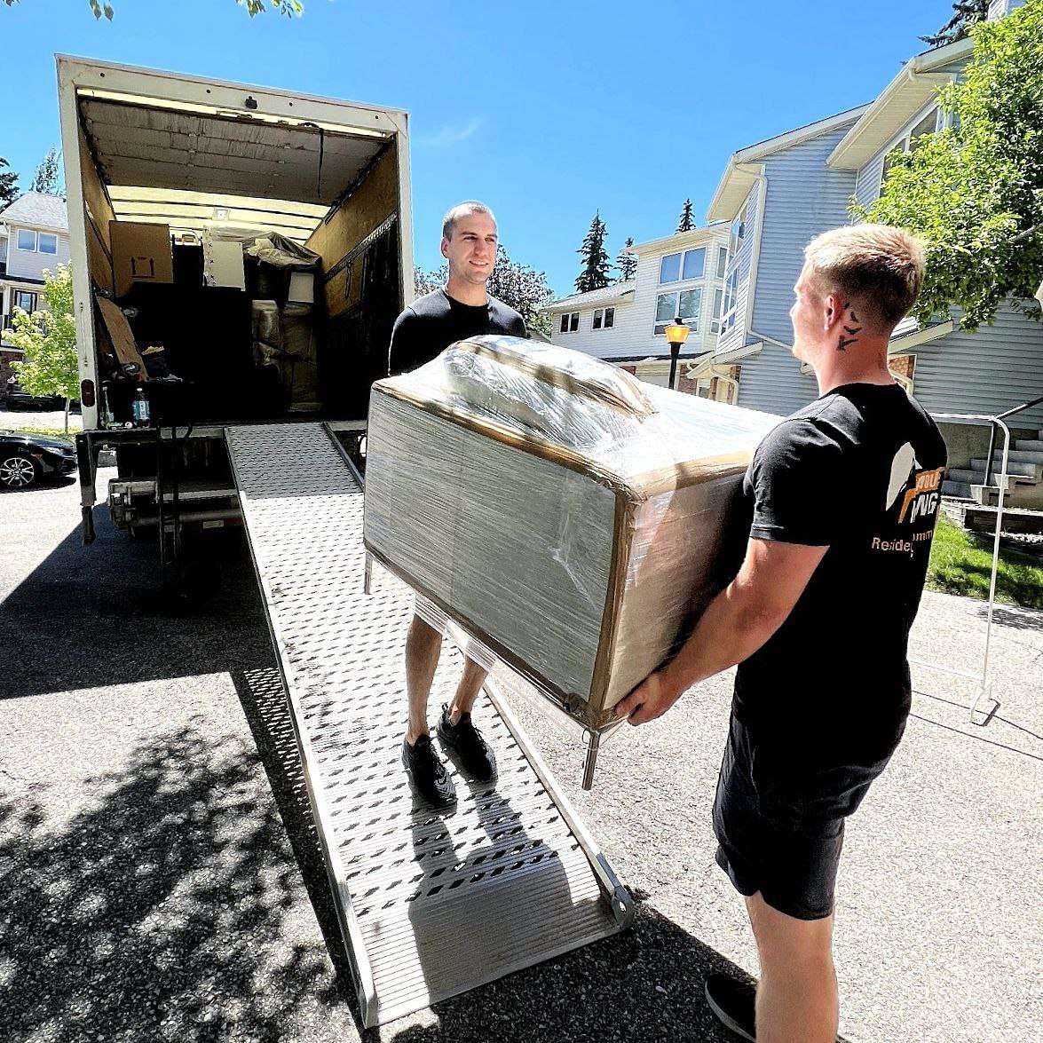
<svg viewBox="0 0 1043 1043">
<path fill-rule="evenodd" d="M 909 58 L 841 139 L 826 161 L 828 166 L 835 170 L 864 167 L 952 80 L 954 73 L 941 70 L 960 62 L 973 49 L 974 41 L 965 38 Z"/>
</svg>

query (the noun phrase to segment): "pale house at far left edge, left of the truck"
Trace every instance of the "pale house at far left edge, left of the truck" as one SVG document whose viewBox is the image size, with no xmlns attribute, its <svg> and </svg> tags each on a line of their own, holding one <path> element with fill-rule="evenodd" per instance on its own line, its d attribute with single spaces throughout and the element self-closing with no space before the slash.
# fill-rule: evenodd
<svg viewBox="0 0 1043 1043">
<path fill-rule="evenodd" d="M 10 325 L 16 308 L 41 307 L 44 269 L 69 263 L 69 218 L 59 196 L 26 192 L 0 211 L 0 330 Z M 11 378 L 10 363 L 21 351 L 0 341 L 0 395 Z"/>
</svg>

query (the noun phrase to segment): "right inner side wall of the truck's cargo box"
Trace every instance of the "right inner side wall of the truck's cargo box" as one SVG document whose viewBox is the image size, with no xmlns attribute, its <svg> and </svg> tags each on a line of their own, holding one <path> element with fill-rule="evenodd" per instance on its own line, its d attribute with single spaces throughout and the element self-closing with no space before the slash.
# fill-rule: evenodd
<svg viewBox="0 0 1043 1043">
<path fill-rule="evenodd" d="M 398 156 L 390 143 L 305 245 L 322 258 L 328 325 L 319 381 L 331 411 L 364 417 L 369 388 L 387 374 L 402 310 Z"/>
</svg>

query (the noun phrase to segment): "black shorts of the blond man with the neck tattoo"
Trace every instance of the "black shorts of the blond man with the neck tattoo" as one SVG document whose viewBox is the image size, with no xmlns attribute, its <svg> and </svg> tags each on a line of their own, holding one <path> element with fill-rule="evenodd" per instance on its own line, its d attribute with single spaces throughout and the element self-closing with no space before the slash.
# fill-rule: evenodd
<svg viewBox="0 0 1043 1043">
<path fill-rule="evenodd" d="M 732 714 L 713 801 L 718 865 L 739 894 L 760 892 L 786 916 L 821 920 L 833 911 L 844 815 L 821 800 L 809 810 L 799 780 L 773 779 L 758 754 Z"/>
</svg>

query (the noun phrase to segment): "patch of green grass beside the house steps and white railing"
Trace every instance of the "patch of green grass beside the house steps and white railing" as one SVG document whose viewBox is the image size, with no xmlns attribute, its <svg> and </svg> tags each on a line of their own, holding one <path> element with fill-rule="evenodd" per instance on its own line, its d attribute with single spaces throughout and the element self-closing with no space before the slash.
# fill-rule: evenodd
<svg viewBox="0 0 1043 1043">
<path fill-rule="evenodd" d="M 985 600 L 989 597 L 991 572 L 991 538 L 979 544 L 947 517 L 940 517 L 930 549 L 927 586 L 931 590 Z M 996 601 L 1043 608 L 1043 566 L 1025 555 L 1000 548 Z"/>
</svg>

